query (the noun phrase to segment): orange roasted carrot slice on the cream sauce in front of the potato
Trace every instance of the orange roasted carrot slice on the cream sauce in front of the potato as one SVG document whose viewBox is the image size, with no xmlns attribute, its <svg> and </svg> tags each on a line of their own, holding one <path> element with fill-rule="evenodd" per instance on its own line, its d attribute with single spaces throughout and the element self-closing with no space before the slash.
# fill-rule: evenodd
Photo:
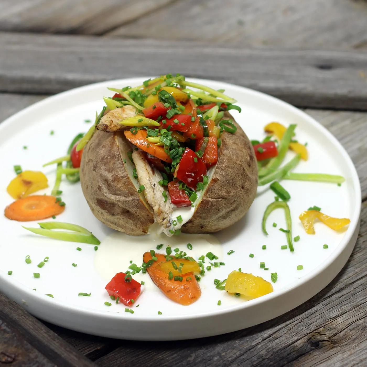
<svg viewBox="0 0 367 367">
<path fill-rule="evenodd" d="M 154 284 L 172 301 L 187 306 L 200 298 L 201 290 L 192 272 L 182 274 L 182 281 L 168 279 L 168 274 L 157 267 L 158 264 L 166 262 L 162 254 L 156 254 L 158 258 L 149 268 L 146 268 Z M 152 260 L 150 252 L 145 252 L 143 261 L 147 263 Z M 188 279 L 191 278 L 191 279 Z"/>
</svg>

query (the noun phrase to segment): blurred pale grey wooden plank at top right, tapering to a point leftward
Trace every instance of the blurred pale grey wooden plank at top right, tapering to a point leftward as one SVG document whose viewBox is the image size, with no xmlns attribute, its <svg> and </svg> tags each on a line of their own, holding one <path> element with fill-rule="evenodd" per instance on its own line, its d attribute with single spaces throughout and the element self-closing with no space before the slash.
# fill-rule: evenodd
<svg viewBox="0 0 367 367">
<path fill-rule="evenodd" d="M 366 16 L 365 1 L 188 0 L 107 35 L 239 47 L 367 48 Z"/>
</svg>

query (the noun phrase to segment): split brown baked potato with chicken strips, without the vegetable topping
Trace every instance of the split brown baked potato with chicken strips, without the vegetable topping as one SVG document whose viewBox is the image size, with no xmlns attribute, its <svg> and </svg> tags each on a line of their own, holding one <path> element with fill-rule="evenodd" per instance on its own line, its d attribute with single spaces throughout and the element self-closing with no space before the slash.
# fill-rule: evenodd
<svg viewBox="0 0 367 367">
<path fill-rule="evenodd" d="M 173 94 L 171 93 L 171 95 Z M 176 99 L 176 103 L 185 106 L 185 101 L 177 101 Z M 189 103 L 192 104 L 192 101 L 186 101 L 186 108 Z M 226 106 L 224 103 L 222 105 Z M 196 113 L 200 111 L 199 109 L 195 110 L 195 103 L 193 106 L 190 116 L 196 117 Z M 124 107 L 120 108 L 121 113 L 124 112 Z M 172 204 L 174 200 L 171 201 L 171 191 L 167 189 L 167 182 L 162 185 L 164 177 L 166 177 L 164 170 L 146 159 L 146 151 L 152 148 L 151 144 L 148 143 L 148 150 L 145 152 L 141 150 L 145 149 L 141 148 L 142 146 L 138 145 L 141 148 L 138 149 L 127 139 L 131 135 L 128 130 L 131 124 L 124 126 L 119 121 L 116 124 L 116 121 L 121 117 L 118 110 L 110 112 L 107 110 L 106 112 L 105 116 L 97 121 L 97 130 L 84 147 L 80 166 L 83 194 L 91 211 L 101 222 L 129 235 L 148 233 L 154 222 L 157 222 L 167 235 L 172 235 L 179 227 L 185 233 L 212 233 L 227 228 L 246 214 L 257 191 L 257 161 L 249 139 L 227 111 L 224 112 L 224 115 L 222 113 L 222 119 L 232 121 L 231 126 L 236 128 L 236 131 L 231 133 L 221 129 L 221 144 L 218 148 L 217 161 L 215 164 L 207 164 L 207 182 L 204 181 L 206 185 L 200 186 L 201 190 L 197 191 L 196 200 L 190 196 L 192 205 L 190 203 L 189 207 L 184 208 L 186 214 L 185 217 L 182 216 L 181 224 L 176 220 L 180 211 L 177 211 L 176 205 Z M 132 112 L 130 105 L 128 105 L 126 112 L 130 117 Z M 135 109 L 135 113 L 137 117 L 144 116 L 137 109 Z M 129 117 L 124 121 L 130 121 Z M 140 120 L 142 119 L 135 121 Z M 175 123 L 177 124 L 177 122 Z M 183 123 L 181 125 L 183 126 Z M 137 126 L 139 126 L 138 123 Z M 131 131 L 133 129 L 135 127 L 131 128 Z M 175 125 L 173 125 L 173 129 L 175 129 Z M 156 130 L 162 131 L 161 127 Z M 175 133 L 175 136 L 179 133 L 183 137 L 186 134 L 182 131 Z M 194 135 L 192 134 L 190 138 L 193 138 Z M 181 139 L 178 135 L 177 138 Z M 186 137 L 186 142 L 190 143 L 191 140 Z M 158 149 L 158 147 L 163 148 L 160 144 L 157 144 L 155 148 Z M 164 148 L 168 152 L 167 146 Z M 159 157 L 162 159 L 161 156 Z M 198 157 L 194 158 L 195 164 L 197 160 L 201 161 L 200 155 Z M 205 161 L 204 157 L 202 160 Z M 166 166 L 169 164 L 164 160 L 161 163 Z M 175 182 L 179 177 L 177 171 L 180 164 L 183 164 L 182 161 L 179 161 L 174 172 L 168 174 L 172 177 L 170 179 Z M 202 178 L 201 181 L 203 181 Z M 185 192 L 182 187 L 185 186 L 184 184 L 179 186 L 183 193 Z M 186 193 L 190 195 L 191 192 L 195 191 L 195 187 L 191 187 L 191 190 L 194 191 L 186 190 Z"/>
</svg>

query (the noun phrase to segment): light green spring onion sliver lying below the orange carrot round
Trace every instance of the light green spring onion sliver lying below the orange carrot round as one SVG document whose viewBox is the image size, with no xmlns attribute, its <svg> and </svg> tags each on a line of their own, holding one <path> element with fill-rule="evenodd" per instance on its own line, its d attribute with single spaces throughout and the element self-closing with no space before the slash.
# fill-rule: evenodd
<svg viewBox="0 0 367 367">
<path fill-rule="evenodd" d="M 50 237 L 56 240 L 89 243 L 92 245 L 99 245 L 101 243 L 97 239 L 97 237 L 92 235 L 92 233 L 89 232 L 86 228 L 75 224 L 63 222 L 43 222 L 38 224 L 41 228 L 29 228 L 24 226 L 23 228 L 29 230 L 30 232 L 36 233 L 37 235 Z M 72 232 L 65 232 L 54 229 L 67 229 Z"/>
</svg>

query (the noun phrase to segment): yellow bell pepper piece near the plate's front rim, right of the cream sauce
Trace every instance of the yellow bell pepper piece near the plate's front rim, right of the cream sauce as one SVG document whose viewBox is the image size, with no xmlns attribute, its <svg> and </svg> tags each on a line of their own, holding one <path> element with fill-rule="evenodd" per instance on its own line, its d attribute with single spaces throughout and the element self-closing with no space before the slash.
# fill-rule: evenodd
<svg viewBox="0 0 367 367">
<path fill-rule="evenodd" d="M 228 293 L 240 293 L 248 299 L 253 299 L 271 293 L 273 286 L 261 276 L 233 270 L 228 275 L 225 290 Z"/>
</svg>

